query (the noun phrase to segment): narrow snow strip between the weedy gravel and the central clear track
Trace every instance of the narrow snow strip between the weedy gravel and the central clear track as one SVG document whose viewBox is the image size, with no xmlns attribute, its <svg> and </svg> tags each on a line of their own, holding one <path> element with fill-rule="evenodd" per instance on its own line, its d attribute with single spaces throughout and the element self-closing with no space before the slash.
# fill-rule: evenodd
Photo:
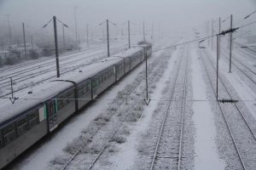
<svg viewBox="0 0 256 170">
<path fill-rule="evenodd" d="M 173 58 L 172 61 L 174 60 Z M 134 166 L 133 164 L 137 159 L 137 146 L 140 142 L 140 138 L 146 133 L 148 126 L 150 126 L 154 110 L 157 108 L 162 95 L 161 92 L 165 88 L 166 77 L 168 77 L 168 73 L 172 70 L 173 65 L 174 62 L 170 62 L 166 68 L 165 74 L 162 75 L 160 81 L 156 84 L 156 90 L 153 94 L 150 94 L 149 98 L 152 98 L 150 105 L 145 107 L 143 118 L 134 125 L 135 127 L 132 128 L 131 135 L 128 137 L 127 142 L 120 146 L 121 149 L 117 155 L 109 158 L 112 164 L 111 169 L 132 169 L 131 167 Z"/>
</svg>

